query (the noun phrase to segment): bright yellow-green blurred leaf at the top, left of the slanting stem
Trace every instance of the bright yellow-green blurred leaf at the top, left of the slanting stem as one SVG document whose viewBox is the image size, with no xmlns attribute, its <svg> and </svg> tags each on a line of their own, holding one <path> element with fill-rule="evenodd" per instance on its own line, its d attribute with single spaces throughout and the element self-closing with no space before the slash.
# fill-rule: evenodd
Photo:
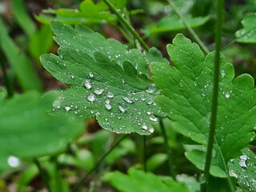
<svg viewBox="0 0 256 192">
<path fill-rule="evenodd" d="M 47 13 L 47 11 L 45 12 Z M 55 17 L 49 16 L 47 14 L 40 14 L 39 16 L 37 16 L 37 19 L 39 22 L 42 23 L 49 23 L 51 20 L 54 20 L 70 25 L 75 25 L 77 23 L 83 23 L 86 25 L 91 25 L 95 23 L 110 23 L 114 25 L 117 20 L 114 14 L 110 14 L 110 12 L 102 10 L 102 6 L 99 4 L 95 4 L 92 0 L 82 1 L 79 10 L 50 10 L 50 14 L 55 14 Z"/>
</svg>

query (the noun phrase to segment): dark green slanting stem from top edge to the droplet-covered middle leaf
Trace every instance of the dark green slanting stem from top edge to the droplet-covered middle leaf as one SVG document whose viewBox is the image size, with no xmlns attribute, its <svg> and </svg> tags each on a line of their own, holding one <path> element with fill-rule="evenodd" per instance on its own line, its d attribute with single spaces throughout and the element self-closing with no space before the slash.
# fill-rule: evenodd
<svg viewBox="0 0 256 192">
<path fill-rule="evenodd" d="M 103 2 L 106 3 L 106 5 L 110 8 L 110 10 L 118 17 L 119 21 L 122 22 L 124 26 L 127 27 L 127 30 L 130 31 L 130 33 L 138 40 L 138 42 L 141 44 L 144 50 L 149 51 L 149 47 L 146 45 L 146 42 L 143 41 L 143 39 L 138 35 L 136 30 L 134 30 L 134 27 L 130 25 L 129 22 L 126 21 L 125 18 L 122 17 L 122 14 L 118 12 L 118 10 L 114 7 L 114 5 L 109 0 L 103 0 Z"/>
</svg>

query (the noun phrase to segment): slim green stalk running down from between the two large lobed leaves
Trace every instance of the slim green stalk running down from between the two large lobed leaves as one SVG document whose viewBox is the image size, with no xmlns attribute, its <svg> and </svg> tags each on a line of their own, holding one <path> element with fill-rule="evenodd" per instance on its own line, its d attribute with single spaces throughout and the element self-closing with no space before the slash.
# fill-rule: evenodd
<svg viewBox="0 0 256 192">
<path fill-rule="evenodd" d="M 170 175 L 174 180 L 176 180 L 176 173 L 175 173 L 175 170 L 174 170 L 174 162 L 172 161 L 170 146 L 168 144 L 166 129 L 163 126 L 163 123 L 162 123 L 162 118 L 159 118 L 159 126 L 160 126 L 160 130 L 162 132 L 162 137 L 164 139 L 164 144 L 165 144 L 165 147 L 166 147 L 166 153 L 168 155 L 168 166 L 169 166 Z"/>
</svg>

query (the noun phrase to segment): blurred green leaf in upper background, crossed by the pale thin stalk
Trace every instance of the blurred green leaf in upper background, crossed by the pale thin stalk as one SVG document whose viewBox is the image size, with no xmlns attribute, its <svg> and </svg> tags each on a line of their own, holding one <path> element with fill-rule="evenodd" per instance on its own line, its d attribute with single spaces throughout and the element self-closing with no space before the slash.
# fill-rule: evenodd
<svg viewBox="0 0 256 192">
<path fill-rule="evenodd" d="M 198 17 L 198 18 L 191 18 L 186 17 L 186 22 L 193 28 L 202 26 L 209 20 L 209 17 Z M 182 21 L 178 18 L 177 15 L 168 16 L 162 18 L 156 25 L 146 26 L 142 29 L 142 33 L 145 34 L 147 37 L 152 34 L 160 34 L 164 32 L 170 32 L 174 30 L 184 30 L 186 26 L 182 23 Z"/>
</svg>

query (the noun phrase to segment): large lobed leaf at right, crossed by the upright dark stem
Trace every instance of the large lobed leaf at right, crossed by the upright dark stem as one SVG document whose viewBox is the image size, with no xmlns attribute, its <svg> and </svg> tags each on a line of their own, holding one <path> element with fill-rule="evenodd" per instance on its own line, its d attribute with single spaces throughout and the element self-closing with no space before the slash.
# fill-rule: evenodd
<svg viewBox="0 0 256 192">
<path fill-rule="evenodd" d="M 150 66 L 153 82 L 163 94 L 155 101 L 172 120 L 175 130 L 206 146 L 212 108 L 214 53 L 205 57 L 199 46 L 182 34 L 174 38 L 167 51 L 173 67 L 160 62 Z M 254 79 L 249 74 L 234 78 L 234 68 L 223 56 L 219 75 L 218 121 L 210 174 L 223 177 L 225 175 L 218 174 L 214 167 L 226 172 L 225 164 L 230 158 L 238 157 L 253 136 L 256 91 Z M 202 154 L 196 152 L 194 158 L 190 158 L 201 170 L 204 160 L 198 162 L 196 157 Z"/>
</svg>

